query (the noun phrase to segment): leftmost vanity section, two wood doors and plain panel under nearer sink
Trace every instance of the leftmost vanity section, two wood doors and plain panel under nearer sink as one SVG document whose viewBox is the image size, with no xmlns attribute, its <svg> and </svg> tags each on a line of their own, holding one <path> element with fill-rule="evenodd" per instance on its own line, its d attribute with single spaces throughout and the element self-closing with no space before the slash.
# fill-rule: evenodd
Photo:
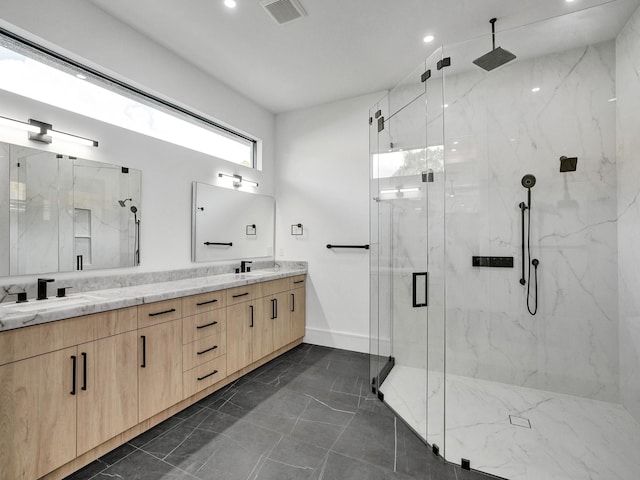
<svg viewBox="0 0 640 480">
<path fill-rule="evenodd" d="M 1 480 L 40 478 L 138 423 L 135 329 L 128 308 L 0 334 Z"/>
</svg>

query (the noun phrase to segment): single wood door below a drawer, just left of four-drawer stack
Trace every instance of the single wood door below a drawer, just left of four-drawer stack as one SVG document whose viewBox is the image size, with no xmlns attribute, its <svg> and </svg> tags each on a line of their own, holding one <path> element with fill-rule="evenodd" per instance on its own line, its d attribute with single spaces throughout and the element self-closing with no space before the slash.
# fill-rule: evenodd
<svg viewBox="0 0 640 480">
<path fill-rule="evenodd" d="M 138 330 L 139 421 L 172 405 L 182 396 L 182 320 Z"/>
</svg>

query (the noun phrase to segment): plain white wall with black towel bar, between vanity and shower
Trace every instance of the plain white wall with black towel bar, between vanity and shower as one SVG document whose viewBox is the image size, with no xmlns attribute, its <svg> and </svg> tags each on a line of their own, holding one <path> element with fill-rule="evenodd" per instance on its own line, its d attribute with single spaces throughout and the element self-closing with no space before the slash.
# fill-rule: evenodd
<svg viewBox="0 0 640 480">
<path fill-rule="evenodd" d="M 369 108 L 382 94 L 278 115 L 276 258 L 309 262 L 305 341 L 369 351 Z M 292 224 L 304 236 L 291 236 Z"/>
</svg>

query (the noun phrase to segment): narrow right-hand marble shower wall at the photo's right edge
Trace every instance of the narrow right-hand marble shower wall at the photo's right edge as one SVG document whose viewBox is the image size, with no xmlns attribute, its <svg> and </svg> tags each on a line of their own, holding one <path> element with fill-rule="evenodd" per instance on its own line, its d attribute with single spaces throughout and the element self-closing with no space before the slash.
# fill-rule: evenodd
<svg viewBox="0 0 640 480">
<path fill-rule="evenodd" d="M 640 9 L 616 41 L 620 389 L 640 421 Z"/>
</svg>

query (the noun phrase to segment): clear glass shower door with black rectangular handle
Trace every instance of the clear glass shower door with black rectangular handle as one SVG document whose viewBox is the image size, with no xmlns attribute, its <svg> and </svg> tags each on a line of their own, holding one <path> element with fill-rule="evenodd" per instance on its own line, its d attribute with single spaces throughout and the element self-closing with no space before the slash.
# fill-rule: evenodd
<svg viewBox="0 0 640 480">
<path fill-rule="evenodd" d="M 432 59 L 370 112 L 371 377 L 374 392 L 416 433 L 443 444 L 444 390 L 430 385 L 442 384 L 444 367 L 435 258 L 443 231 L 430 223 L 442 224 L 442 80 Z"/>
</svg>

